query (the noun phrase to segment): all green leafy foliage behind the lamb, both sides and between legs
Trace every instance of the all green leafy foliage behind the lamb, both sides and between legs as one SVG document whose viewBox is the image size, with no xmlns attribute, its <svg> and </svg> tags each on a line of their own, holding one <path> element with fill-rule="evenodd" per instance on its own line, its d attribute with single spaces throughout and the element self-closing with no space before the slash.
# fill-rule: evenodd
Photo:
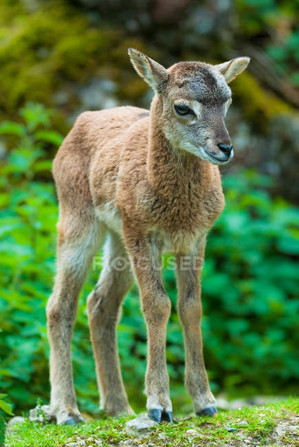
<svg viewBox="0 0 299 447">
<path fill-rule="evenodd" d="M 49 400 L 45 305 L 55 274 L 58 207 L 47 153 L 61 141 L 52 111 L 29 104 L 23 123 L 4 122 L 1 138 L 13 144 L 0 173 L 0 389 L 17 411 Z M 210 232 L 202 274 L 203 338 L 212 389 L 229 393 L 294 389 L 298 325 L 299 210 L 272 197 L 269 177 L 247 171 L 225 177 L 226 208 Z M 183 391 L 184 344 L 175 311 L 171 257 L 164 282 L 173 301 L 167 360 L 173 400 L 190 408 Z M 91 271 L 80 298 L 72 343 L 80 408 L 96 411 L 98 391 L 87 327 L 86 297 L 99 271 Z M 297 297 L 298 298 L 298 297 Z M 119 325 L 122 372 L 135 409 L 146 369 L 146 330 L 137 287 L 126 297 Z"/>
</svg>

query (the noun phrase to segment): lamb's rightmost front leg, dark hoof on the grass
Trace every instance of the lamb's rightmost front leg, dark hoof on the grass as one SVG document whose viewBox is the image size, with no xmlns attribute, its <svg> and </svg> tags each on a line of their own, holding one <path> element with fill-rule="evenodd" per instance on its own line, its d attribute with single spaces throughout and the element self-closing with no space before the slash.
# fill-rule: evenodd
<svg viewBox="0 0 299 447">
<path fill-rule="evenodd" d="M 184 330 L 186 353 L 185 384 L 190 393 L 197 415 L 217 415 L 216 401 L 210 391 L 208 375 L 203 362 L 201 339 L 201 292 L 199 274 L 204 245 L 197 255 L 177 257 L 179 285 L 179 317 Z"/>
</svg>

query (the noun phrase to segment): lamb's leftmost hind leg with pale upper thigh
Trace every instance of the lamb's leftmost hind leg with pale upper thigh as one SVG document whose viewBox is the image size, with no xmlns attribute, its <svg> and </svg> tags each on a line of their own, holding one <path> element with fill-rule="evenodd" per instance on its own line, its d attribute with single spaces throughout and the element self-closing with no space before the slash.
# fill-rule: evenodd
<svg viewBox="0 0 299 447">
<path fill-rule="evenodd" d="M 50 345 L 51 411 L 58 424 L 82 422 L 76 404 L 71 369 L 71 335 L 77 313 L 78 296 L 91 258 L 104 228 L 92 212 L 80 216 L 60 216 L 58 223 L 57 274 L 54 290 L 47 303 L 47 330 Z"/>
</svg>

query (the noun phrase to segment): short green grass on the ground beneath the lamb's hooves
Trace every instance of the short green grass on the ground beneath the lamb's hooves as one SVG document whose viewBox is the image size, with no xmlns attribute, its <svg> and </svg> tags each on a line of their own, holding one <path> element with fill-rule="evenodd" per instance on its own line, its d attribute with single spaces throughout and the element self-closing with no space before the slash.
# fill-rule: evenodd
<svg viewBox="0 0 299 447">
<path fill-rule="evenodd" d="M 279 445 L 298 446 L 294 433 L 283 434 L 278 444 L 274 442 L 274 428 L 281 422 L 293 428 L 299 410 L 299 399 L 288 400 L 265 406 L 252 406 L 239 410 L 221 411 L 216 418 L 185 417 L 178 418 L 174 424 L 160 424 L 144 439 L 138 439 L 139 446 L 256 446 Z M 85 446 L 122 445 L 120 441 L 135 439 L 128 435 L 125 423 L 133 417 L 104 417 L 81 426 L 56 426 L 41 424 L 25 419 L 23 424 L 13 426 L 8 434 L 5 447 L 54 447 L 66 446 L 71 442 L 84 440 Z M 236 428 L 230 432 L 228 427 Z M 187 430 L 194 429 L 194 437 Z M 274 444 L 272 444 L 272 442 Z M 133 445 L 133 444 L 132 444 Z"/>
</svg>

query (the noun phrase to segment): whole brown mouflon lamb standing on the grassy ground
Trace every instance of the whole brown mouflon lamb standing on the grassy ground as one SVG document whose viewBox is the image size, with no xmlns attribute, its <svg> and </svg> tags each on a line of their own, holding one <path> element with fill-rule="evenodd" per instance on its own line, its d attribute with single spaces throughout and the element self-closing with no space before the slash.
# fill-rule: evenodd
<svg viewBox="0 0 299 447">
<path fill-rule="evenodd" d="M 137 50 L 130 49 L 129 55 L 137 74 L 155 90 L 151 110 L 82 113 L 54 160 L 60 215 L 47 325 L 51 410 L 58 424 L 82 421 L 71 371 L 71 334 L 80 289 L 106 236 L 104 267 L 87 302 L 102 408 L 110 415 L 132 412 L 120 373 L 116 327 L 135 275 L 148 333 L 148 415 L 172 421 L 165 358 L 170 300 L 159 265 L 163 252 L 173 252 L 186 388 L 198 415 L 217 413 L 203 362 L 199 273 L 206 235 L 224 207 L 217 165 L 233 156 L 223 122 L 232 102 L 228 83 L 250 59 L 214 66 L 180 62 L 165 69 Z M 119 257 L 123 268 L 115 267 Z"/>
</svg>

